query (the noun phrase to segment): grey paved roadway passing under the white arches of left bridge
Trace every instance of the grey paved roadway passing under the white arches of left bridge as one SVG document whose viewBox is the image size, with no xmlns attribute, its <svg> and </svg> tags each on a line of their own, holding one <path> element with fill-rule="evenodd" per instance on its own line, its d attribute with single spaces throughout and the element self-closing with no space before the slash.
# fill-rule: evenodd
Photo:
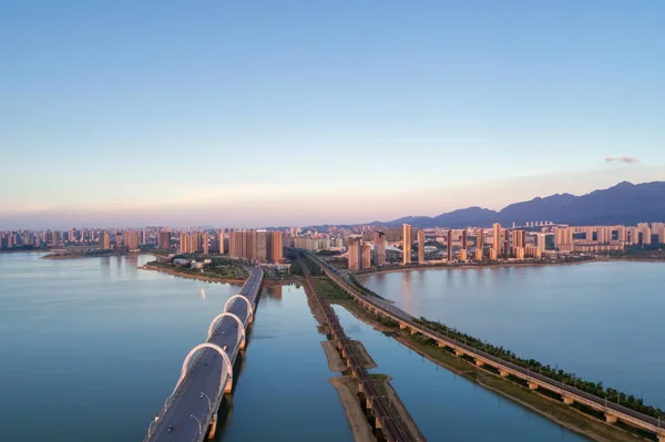
<svg viewBox="0 0 665 442">
<path fill-rule="evenodd" d="M 246 296 L 254 305 L 263 279 L 263 270 L 260 268 L 248 268 L 248 270 L 250 275 L 241 295 Z M 236 298 L 229 305 L 228 311 L 244 321 L 247 317 L 247 302 Z M 202 325 L 202 329 L 205 326 L 207 325 Z M 228 346 L 226 353 L 232 363 L 235 362 L 235 357 L 239 351 L 238 333 L 241 330 L 237 326 L 235 319 L 222 318 L 208 341 L 222 348 L 225 345 Z M 218 404 L 221 400 L 218 391 L 222 376 L 224 374 L 224 380 L 226 380 L 227 372 L 233 370 L 233 367 L 226 367 L 224 359 L 215 350 L 203 349 L 198 354 L 201 356 L 193 359 L 194 362 L 191 363 L 187 376 L 173 398 L 167 401 L 160 413 L 160 420 L 152 426 L 145 441 L 188 442 L 201 441 L 206 436 L 211 418 L 217 411 L 215 404 Z M 185 354 L 183 354 L 184 357 Z M 202 392 L 205 393 L 203 398 Z M 172 428 L 171 432 L 168 432 L 170 428 Z"/>
</svg>

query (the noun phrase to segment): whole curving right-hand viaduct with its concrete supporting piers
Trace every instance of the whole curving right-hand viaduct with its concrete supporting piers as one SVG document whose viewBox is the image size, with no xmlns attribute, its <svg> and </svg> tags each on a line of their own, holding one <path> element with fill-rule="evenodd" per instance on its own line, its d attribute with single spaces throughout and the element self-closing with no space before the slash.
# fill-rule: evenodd
<svg viewBox="0 0 665 442">
<path fill-rule="evenodd" d="M 305 254 L 311 260 L 317 263 L 334 282 L 364 308 L 398 322 L 400 329 L 409 330 L 411 335 L 420 333 L 434 340 L 439 347 L 452 349 L 456 356 L 473 360 L 478 367 L 483 367 L 485 364 L 492 367 L 502 378 L 512 376 L 520 379 L 529 386 L 530 390 L 543 389 L 556 393 L 561 395 L 563 403 L 566 405 L 577 402 L 579 404 L 595 410 L 605 415 L 605 421 L 607 423 L 617 423 L 621 421 L 624 424 L 654 434 L 658 442 L 665 442 L 665 422 L 662 418 L 653 418 L 618 403 L 610 402 L 606 398 L 587 393 L 573 386 L 565 384 L 538 372 L 533 372 L 528 368 L 516 366 L 510 361 L 481 351 L 449 336 L 441 335 L 429 327 L 416 322 L 411 315 L 401 310 L 399 307 L 386 302 L 380 298 L 366 296 L 352 288 L 347 280 L 340 277 L 337 269 L 332 268 L 328 263 L 319 259 L 309 251 L 305 251 Z"/>
</svg>

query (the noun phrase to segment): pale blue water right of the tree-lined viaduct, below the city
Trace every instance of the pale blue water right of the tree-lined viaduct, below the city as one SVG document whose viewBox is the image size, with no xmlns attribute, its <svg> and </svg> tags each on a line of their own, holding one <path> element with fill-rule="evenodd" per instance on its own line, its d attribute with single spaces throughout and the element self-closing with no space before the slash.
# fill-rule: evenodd
<svg viewBox="0 0 665 442">
<path fill-rule="evenodd" d="M 665 264 L 410 270 L 361 280 L 415 316 L 665 408 Z"/>
</svg>

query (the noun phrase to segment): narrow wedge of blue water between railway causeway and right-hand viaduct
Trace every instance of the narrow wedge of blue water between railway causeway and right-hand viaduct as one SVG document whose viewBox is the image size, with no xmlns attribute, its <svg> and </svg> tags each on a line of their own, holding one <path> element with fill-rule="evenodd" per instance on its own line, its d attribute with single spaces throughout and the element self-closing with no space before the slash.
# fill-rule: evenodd
<svg viewBox="0 0 665 442">
<path fill-rule="evenodd" d="M 428 441 L 586 441 L 438 367 L 344 308 L 335 311 L 347 335 L 362 341 L 377 362 L 371 371 L 392 377 L 391 384 Z"/>
</svg>

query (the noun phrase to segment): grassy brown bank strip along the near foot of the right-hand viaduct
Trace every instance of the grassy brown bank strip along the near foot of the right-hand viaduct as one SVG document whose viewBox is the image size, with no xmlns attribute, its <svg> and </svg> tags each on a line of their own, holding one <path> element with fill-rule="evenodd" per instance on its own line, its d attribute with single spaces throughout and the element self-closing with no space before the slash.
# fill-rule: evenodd
<svg viewBox="0 0 665 442">
<path fill-rule="evenodd" d="M 351 310 L 347 308 L 348 302 L 345 302 L 344 305 L 337 300 L 334 302 L 347 309 L 351 315 L 354 315 L 354 317 L 365 323 L 368 323 L 375 328 L 377 328 L 377 325 L 379 325 L 385 332 L 390 332 L 390 335 L 392 335 L 398 342 L 410 348 L 418 354 L 427 358 L 439 367 L 452 371 L 464 379 L 501 394 L 502 397 L 529 410 L 532 410 L 575 433 L 582 434 L 597 442 L 635 442 L 637 440 L 644 440 L 632 433 L 623 431 L 620 428 L 610 426 L 604 421 L 582 413 L 574 408 L 553 401 L 552 399 L 543 397 L 539 393 L 534 393 L 518 383 L 504 378 L 500 378 L 485 369 L 475 367 L 473 363 L 463 358 L 458 358 L 444 350 L 419 342 L 406 330 L 400 331 L 399 329 L 390 328 L 381 322 L 378 322 L 376 315 L 369 313 L 360 307 Z M 354 301 L 349 300 L 349 302 Z"/>
</svg>

